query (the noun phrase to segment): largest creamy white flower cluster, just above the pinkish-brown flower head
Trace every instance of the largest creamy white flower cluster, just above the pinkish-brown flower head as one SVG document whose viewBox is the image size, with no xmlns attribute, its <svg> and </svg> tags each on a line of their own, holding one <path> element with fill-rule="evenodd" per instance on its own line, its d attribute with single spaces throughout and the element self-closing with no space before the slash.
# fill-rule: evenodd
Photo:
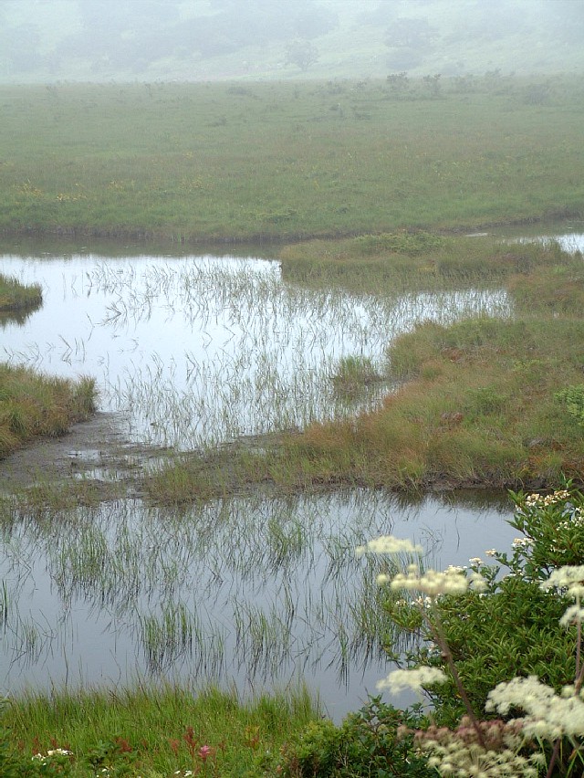
<svg viewBox="0 0 584 778">
<path fill-rule="evenodd" d="M 513 678 L 490 691 L 485 705 L 485 710 L 497 710 L 504 716 L 511 708 L 527 712 L 520 720 L 527 737 L 556 741 L 565 735 L 584 735 L 584 700 L 572 686 L 558 695 L 537 676 Z"/>
</svg>

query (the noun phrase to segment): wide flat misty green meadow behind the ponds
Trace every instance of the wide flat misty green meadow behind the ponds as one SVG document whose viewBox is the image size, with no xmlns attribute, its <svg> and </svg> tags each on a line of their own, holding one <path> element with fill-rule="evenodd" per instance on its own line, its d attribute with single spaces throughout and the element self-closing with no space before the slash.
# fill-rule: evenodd
<svg viewBox="0 0 584 778">
<path fill-rule="evenodd" d="M 581 79 L 0 89 L 0 231 L 174 241 L 584 214 Z"/>
</svg>

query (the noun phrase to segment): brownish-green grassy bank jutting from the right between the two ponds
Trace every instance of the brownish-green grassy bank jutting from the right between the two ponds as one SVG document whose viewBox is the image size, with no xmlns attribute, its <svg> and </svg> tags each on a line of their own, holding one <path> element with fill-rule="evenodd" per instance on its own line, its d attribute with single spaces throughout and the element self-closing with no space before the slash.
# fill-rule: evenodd
<svg viewBox="0 0 584 778">
<path fill-rule="evenodd" d="M 414 320 L 387 347 L 385 378 L 400 385 L 397 392 L 370 411 L 284 434 L 266 443 L 266 453 L 234 451 L 229 468 L 241 484 L 421 490 L 553 484 L 562 471 L 581 478 L 581 426 L 560 399 L 581 384 L 579 254 L 553 242 L 504 245 L 404 232 L 329 242 L 326 252 L 317 241 L 283 255 L 283 271 L 295 273 L 297 283 L 314 282 L 314 267 L 321 283 L 328 268 L 345 265 L 352 286 L 364 258 L 369 267 L 360 286 L 370 293 L 398 288 L 407 299 L 432 289 L 440 307 L 449 304 L 444 292 L 468 285 L 480 293 L 498 290 L 501 305 L 462 321 L 448 310 L 438 310 L 436 321 Z M 211 465 L 196 461 L 188 467 Z M 188 473 L 182 475 L 188 483 Z M 167 477 L 172 468 L 157 476 Z M 203 481 L 213 478 L 211 465 Z"/>
</svg>

